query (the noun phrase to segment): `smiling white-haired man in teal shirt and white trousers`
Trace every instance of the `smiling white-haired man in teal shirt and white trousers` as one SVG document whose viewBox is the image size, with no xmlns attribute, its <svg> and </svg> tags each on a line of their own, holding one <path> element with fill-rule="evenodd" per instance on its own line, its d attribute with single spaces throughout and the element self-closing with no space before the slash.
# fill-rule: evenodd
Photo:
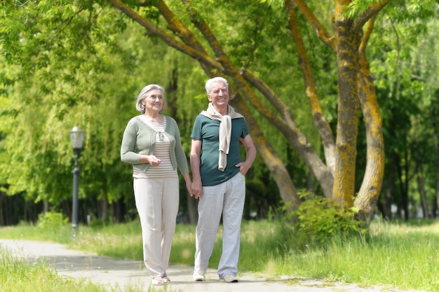
<svg viewBox="0 0 439 292">
<path fill-rule="evenodd" d="M 238 281 L 241 218 L 245 199 L 245 174 L 255 160 L 256 149 L 247 123 L 229 106 L 229 85 L 216 77 L 205 83 L 209 105 L 195 119 L 191 134 L 191 195 L 199 197 L 194 280 L 203 281 L 212 255 L 219 221 L 224 226 L 218 275 L 222 281 Z M 246 159 L 240 155 L 245 147 Z"/>
</svg>

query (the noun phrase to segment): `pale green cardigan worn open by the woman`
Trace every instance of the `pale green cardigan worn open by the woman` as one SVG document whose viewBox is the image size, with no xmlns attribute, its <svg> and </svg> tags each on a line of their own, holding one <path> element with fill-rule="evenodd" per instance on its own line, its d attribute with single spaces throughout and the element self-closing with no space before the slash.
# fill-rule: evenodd
<svg viewBox="0 0 439 292">
<path fill-rule="evenodd" d="M 148 169 L 149 163 L 140 163 L 140 155 L 153 155 L 156 148 L 157 132 L 142 121 L 141 116 L 131 118 L 123 132 L 121 160 L 142 170 Z M 166 116 L 166 134 L 170 141 L 170 161 L 173 169 L 180 169 L 182 174 L 189 172 L 187 158 L 180 139 L 180 130 L 173 118 Z"/>
</svg>

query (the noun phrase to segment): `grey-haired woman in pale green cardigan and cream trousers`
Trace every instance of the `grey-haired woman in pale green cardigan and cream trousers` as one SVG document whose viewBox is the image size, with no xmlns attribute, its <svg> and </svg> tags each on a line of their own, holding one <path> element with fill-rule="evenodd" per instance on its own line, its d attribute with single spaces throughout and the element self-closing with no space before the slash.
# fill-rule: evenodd
<svg viewBox="0 0 439 292">
<path fill-rule="evenodd" d="M 179 207 L 177 167 L 190 191 L 189 167 L 173 118 L 164 116 L 164 90 L 147 85 L 137 96 L 136 109 L 123 132 L 121 160 L 133 165 L 135 205 L 142 225 L 144 265 L 152 284 L 170 281 L 166 274 Z"/>
</svg>

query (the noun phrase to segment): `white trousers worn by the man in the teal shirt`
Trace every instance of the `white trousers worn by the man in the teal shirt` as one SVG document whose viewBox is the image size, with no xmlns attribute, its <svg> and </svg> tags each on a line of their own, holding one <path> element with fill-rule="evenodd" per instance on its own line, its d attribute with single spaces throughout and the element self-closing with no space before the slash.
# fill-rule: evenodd
<svg viewBox="0 0 439 292">
<path fill-rule="evenodd" d="M 218 265 L 219 279 L 238 273 L 241 219 L 245 201 L 245 176 L 238 172 L 217 186 L 204 186 L 198 202 L 194 272 L 205 274 L 212 255 L 222 215 L 222 254 Z"/>
</svg>

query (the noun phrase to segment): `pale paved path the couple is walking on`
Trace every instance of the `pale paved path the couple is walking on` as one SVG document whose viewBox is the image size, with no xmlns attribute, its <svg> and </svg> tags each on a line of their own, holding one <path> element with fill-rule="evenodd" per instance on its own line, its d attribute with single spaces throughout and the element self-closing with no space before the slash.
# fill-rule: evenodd
<svg viewBox="0 0 439 292">
<path fill-rule="evenodd" d="M 94 284 L 112 288 L 137 287 L 148 291 L 151 280 L 147 277 L 142 262 L 138 260 L 115 260 L 95 254 L 67 249 L 62 244 L 0 239 L 0 248 L 10 250 L 13 255 L 37 260 L 47 259 L 62 277 L 86 278 Z M 206 281 L 192 280 L 193 267 L 171 266 L 168 276 L 172 280 L 165 286 L 156 286 L 154 291 L 166 292 L 402 292 L 392 287 L 360 287 L 356 284 L 343 284 L 299 277 L 266 279 L 256 274 L 239 274 L 238 283 L 218 281 L 215 270 L 208 270 Z M 27 291 L 23 291 L 27 292 Z M 405 291 L 408 292 L 408 291 Z M 410 292 L 416 292 L 410 290 Z M 418 291 L 419 292 L 419 291 Z"/>
</svg>

